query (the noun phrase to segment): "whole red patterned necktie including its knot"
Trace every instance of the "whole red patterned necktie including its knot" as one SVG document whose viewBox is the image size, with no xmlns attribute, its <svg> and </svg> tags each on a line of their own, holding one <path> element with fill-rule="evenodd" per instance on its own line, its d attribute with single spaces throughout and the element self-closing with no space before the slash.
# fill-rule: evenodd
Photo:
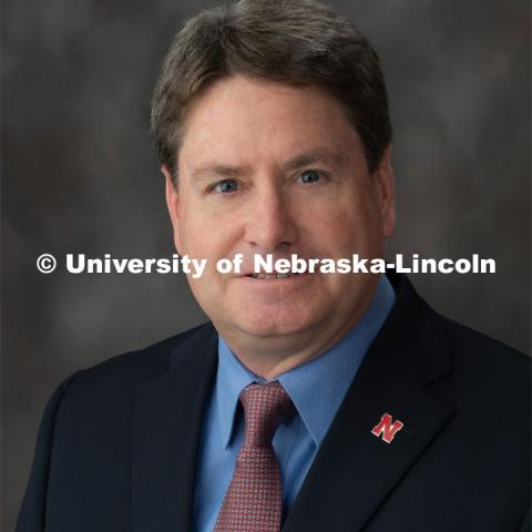
<svg viewBox="0 0 532 532">
<path fill-rule="evenodd" d="M 215 532 L 279 532 L 283 479 L 272 440 L 296 409 L 278 381 L 241 393 L 246 430 Z"/>
</svg>

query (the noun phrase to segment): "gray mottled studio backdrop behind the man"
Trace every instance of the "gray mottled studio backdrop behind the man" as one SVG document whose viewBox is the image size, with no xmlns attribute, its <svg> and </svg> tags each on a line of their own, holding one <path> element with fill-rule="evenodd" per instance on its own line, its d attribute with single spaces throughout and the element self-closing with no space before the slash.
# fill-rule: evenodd
<svg viewBox="0 0 532 532">
<path fill-rule="evenodd" d="M 395 124 L 390 250 L 494 257 L 415 276 L 441 313 L 529 351 L 529 2 L 334 2 L 379 51 Z M 2 45 L 2 531 L 47 398 L 72 371 L 204 319 L 184 278 L 41 275 L 35 258 L 168 256 L 151 91 L 204 1 L 8 0 Z"/>
</svg>

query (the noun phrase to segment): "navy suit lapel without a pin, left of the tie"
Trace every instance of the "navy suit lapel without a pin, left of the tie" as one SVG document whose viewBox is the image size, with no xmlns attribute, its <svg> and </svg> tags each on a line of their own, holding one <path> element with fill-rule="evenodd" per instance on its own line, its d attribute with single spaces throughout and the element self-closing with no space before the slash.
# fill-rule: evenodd
<svg viewBox="0 0 532 532">
<path fill-rule="evenodd" d="M 139 386 L 132 426 L 132 530 L 190 530 L 203 410 L 216 371 L 209 326 L 171 355 L 170 371 Z"/>
</svg>

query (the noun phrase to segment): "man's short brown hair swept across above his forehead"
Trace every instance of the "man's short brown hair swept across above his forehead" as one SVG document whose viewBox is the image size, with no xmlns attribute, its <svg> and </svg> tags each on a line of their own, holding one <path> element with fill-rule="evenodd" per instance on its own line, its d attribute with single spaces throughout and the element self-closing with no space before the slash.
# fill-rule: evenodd
<svg viewBox="0 0 532 532">
<path fill-rule="evenodd" d="M 172 175 L 187 105 L 232 74 L 325 89 L 360 135 L 369 171 L 378 167 L 391 124 L 379 58 L 368 39 L 315 0 L 241 0 L 188 20 L 163 62 L 152 100 L 152 134 Z"/>
</svg>

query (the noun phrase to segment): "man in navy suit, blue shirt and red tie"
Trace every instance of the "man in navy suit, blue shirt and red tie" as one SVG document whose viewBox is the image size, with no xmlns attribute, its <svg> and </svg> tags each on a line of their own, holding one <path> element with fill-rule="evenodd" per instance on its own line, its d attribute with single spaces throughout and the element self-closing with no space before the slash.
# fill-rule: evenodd
<svg viewBox="0 0 532 532">
<path fill-rule="evenodd" d="M 253 269 L 382 255 L 391 127 L 366 38 L 311 1 L 203 12 L 152 127 L 212 324 L 60 386 L 17 530 L 526 530 L 526 357 L 403 276 Z"/>
</svg>

